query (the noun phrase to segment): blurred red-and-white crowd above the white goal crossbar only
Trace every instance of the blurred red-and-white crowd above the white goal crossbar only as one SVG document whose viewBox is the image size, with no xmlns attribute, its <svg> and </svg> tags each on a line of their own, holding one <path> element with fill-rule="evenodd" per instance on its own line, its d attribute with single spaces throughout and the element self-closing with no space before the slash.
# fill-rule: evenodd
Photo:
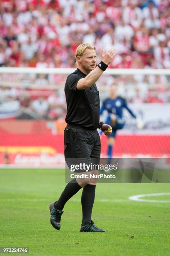
<svg viewBox="0 0 170 256">
<path fill-rule="evenodd" d="M 170 68 L 169 14 L 169 0 L 1 0 L 0 65 L 75 67 L 88 42 L 117 49 L 110 67 Z"/>
</svg>

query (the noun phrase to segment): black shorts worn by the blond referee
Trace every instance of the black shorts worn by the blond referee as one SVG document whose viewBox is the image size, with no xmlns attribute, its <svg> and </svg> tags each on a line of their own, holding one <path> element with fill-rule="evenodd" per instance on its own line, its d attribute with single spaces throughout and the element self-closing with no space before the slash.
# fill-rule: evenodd
<svg viewBox="0 0 170 256">
<path fill-rule="evenodd" d="M 101 143 L 97 130 L 86 130 L 67 125 L 64 130 L 64 146 L 65 161 L 69 169 L 71 164 L 80 164 L 80 162 L 99 165 Z M 87 172 L 87 170 L 82 169 L 75 172 L 83 171 Z"/>
</svg>

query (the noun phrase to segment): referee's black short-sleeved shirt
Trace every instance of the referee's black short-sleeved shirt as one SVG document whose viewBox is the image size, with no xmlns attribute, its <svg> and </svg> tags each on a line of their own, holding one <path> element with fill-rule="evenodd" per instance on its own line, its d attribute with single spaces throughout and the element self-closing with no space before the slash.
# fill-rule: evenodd
<svg viewBox="0 0 170 256">
<path fill-rule="evenodd" d="M 67 77 L 65 97 L 67 102 L 66 123 L 84 129 L 95 130 L 99 125 L 100 99 L 96 84 L 88 89 L 77 90 L 77 82 L 86 77 L 80 69 Z"/>
</svg>

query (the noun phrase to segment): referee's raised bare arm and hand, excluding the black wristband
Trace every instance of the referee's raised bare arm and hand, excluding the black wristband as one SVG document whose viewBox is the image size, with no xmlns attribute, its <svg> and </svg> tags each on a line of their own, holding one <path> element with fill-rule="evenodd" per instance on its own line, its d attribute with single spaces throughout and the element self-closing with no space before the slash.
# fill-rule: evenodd
<svg viewBox="0 0 170 256">
<path fill-rule="evenodd" d="M 103 51 L 102 53 L 102 61 L 108 65 L 112 62 L 114 56 L 116 54 L 115 49 L 110 49 L 105 53 Z M 97 80 L 99 77 L 102 75 L 103 70 L 100 69 L 99 67 L 96 67 L 94 70 L 92 70 L 85 78 L 82 78 L 78 81 L 77 83 L 77 90 L 82 90 L 82 89 L 88 89 L 90 88 Z"/>
</svg>

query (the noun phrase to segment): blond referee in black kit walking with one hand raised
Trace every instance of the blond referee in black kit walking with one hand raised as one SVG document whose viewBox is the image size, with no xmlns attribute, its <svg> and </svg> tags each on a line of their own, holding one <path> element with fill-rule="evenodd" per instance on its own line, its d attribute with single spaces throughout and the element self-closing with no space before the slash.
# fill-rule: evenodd
<svg viewBox="0 0 170 256">
<path fill-rule="evenodd" d="M 97 128 L 105 135 L 112 133 L 110 125 L 100 121 L 99 92 L 95 82 L 106 70 L 116 54 L 115 49 L 105 52 L 102 50 L 102 61 L 96 66 L 95 46 L 80 44 L 75 53 L 77 69 L 67 77 L 65 83 L 65 97 L 67 102 L 67 126 L 64 131 L 65 161 L 70 166 L 70 159 L 84 159 L 95 164 L 100 162 L 100 136 Z M 86 170 L 87 171 L 87 170 Z M 81 171 L 77 171 L 81 174 Z M 85 172 L 87 174 L 87 172 Z M 97 170 L 90 170 L 88 174 L 97 174 Z M 82 189 L 82 225 L 80 232 L 105 232 L 97 228 L 91 220 L 92 207 L 95 200 L 97 179 L 72 179 L 63 190 L 60 198 L 50 204 L 50 223 L 60 229 L 60 220 L 65 203 Z"/>
</svg>

